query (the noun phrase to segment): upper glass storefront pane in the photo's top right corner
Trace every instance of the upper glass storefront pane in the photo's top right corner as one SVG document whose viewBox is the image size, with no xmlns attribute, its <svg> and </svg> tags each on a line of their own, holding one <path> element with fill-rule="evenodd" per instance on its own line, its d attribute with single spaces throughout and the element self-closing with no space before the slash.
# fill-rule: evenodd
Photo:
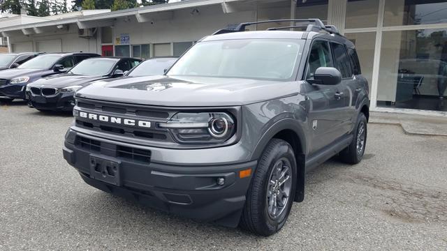
<svg viewBox="0 0 447 251">
<path fill-rule="evenodd" d="M 386 0 L 383 26 L 447 22 L 447 1 Z"/>
</svg>

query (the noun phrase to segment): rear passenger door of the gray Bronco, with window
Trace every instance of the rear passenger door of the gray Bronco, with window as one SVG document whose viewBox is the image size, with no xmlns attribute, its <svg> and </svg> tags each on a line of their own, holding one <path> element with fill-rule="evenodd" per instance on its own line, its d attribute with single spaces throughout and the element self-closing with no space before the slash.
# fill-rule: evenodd
<svg viewBox="0 0 447 251">
<path fill-rule="evenodd" d="M 352 97 L 353 90 L 350 86 L 356 85 L 356 77 L 353 75 L 351 60 L 346 51 L 346 46 L 341 43 L 331 42 L 332 54 L 334 56 L 335 68 L 342 73 L 342 82 L 337 85 L 337 97 L 339 98 L 337 109 L 339 111 L 339 131 L 337 137 L 351 132 L 352 128 Z"/>
</svg>

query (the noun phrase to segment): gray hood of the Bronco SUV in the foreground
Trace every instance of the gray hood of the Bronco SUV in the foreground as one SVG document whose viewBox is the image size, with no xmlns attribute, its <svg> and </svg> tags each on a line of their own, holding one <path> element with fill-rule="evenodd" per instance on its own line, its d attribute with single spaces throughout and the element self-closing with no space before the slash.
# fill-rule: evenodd
<svg viewBox="0 0 447 251">
<path fill-rule="evenodd" d="M 298 93 L 298 82 L 218 77 L 120 77 L 94 82 L 77 97 L 168 107 L 247 105 Z"/>
</svg>

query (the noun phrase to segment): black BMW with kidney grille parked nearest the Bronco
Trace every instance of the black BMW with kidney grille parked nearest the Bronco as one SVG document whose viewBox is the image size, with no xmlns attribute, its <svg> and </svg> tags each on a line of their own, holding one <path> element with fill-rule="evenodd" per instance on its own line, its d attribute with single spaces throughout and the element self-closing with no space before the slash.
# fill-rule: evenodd
<svg viewBox="0 0 447 251">
<path fill-rule="evenodd" d="M 75 105 L 75 91 L 95 80 L 122 77 L 124 71 L 131 70 L 141 61 L 124 57 L 86 59 L 67 73 L 43 77 L 28 84 L 28 105 L 38 110 L 71 111 Z"/>
</svg>

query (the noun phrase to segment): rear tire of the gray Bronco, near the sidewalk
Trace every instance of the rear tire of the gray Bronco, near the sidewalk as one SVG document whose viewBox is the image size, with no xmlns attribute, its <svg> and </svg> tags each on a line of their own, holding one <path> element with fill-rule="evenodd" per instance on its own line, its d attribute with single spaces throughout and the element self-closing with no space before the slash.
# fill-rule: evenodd
<svg viewBox="0 0 447 251">
<path fill-rule="evenodd" d="M 366 139 L 367 139 L 367 119 L 365 114 L 360 112 L 358 114 L 356 128 L 353 131 L 354 137 L 351 144 L 346 149 L 340 152 L 340 159 L 348 164 L 355 165 L 360 162 L 365 153 Z M 362 144 L 360 144 L 362 142 Z M 359 148 L 358 149 L 358 144 Z"/>
</svg>

